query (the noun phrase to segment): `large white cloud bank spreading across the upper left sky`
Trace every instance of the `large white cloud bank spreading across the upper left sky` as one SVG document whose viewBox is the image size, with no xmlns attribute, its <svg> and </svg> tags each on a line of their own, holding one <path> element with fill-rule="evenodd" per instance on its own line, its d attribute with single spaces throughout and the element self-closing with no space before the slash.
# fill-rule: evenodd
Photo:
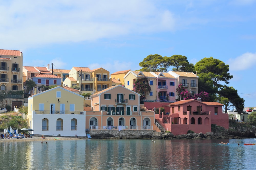
<svg viewBox="0 0 256 170">
<path fill-rule="evenodd" d="M 21 10 L 23 9 L 23 10 Z M 4 15 L 3 15 L 4 14 Z M 2 49 L 95 41 L 175 26 L 173 14 L 148 1 L 1 2 Z"/>
</svg>

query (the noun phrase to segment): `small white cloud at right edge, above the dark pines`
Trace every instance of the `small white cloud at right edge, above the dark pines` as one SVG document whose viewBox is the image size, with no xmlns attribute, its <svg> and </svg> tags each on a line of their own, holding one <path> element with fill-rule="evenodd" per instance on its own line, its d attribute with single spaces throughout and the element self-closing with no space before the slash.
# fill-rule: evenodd
<svg viewBox="0 0 256 170">
<path fill-rule="evenodd" d="M 240 71 L 255 68 L 256 53 L 244 53 L 237 58 L 231 58 L 227 61 L 230 71 Z"/>
</svg>

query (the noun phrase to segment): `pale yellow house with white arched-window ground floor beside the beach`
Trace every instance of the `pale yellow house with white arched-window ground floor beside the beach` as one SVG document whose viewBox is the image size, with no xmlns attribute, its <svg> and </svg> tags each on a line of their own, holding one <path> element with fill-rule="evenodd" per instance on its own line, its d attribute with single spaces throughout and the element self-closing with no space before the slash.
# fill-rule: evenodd
<svg viewBox="0 0 256 170">
<path fill-rule="evenodd" d="M 28 97 L 28 121 L 34 134 L 86 136 L 83 96 L 55 87 Z"/>
</svg>

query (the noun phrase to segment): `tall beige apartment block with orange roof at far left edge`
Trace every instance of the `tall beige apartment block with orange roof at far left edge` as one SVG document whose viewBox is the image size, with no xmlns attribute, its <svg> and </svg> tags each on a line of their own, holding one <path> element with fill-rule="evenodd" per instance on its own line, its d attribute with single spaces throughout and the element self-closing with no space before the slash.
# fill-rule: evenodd
<svg viewBox="0 0 256 170">
<path fill-rule="evenodd" d="M 23 53 L 0 49 L 0 85 L 2 90 L 23 90 Z"/>
</svg>

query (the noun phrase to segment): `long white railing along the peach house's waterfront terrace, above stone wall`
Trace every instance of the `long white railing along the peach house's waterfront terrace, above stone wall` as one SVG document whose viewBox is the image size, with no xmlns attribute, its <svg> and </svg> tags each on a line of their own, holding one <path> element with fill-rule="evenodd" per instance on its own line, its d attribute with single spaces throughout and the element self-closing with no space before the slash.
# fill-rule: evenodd
<svg viewBox="0 0 256 170">
<path fill-rule="evenodd" d="M 97 130 L 153 130 L 153 126 L 90 126 L 91 131 Z"/>
</svg>

